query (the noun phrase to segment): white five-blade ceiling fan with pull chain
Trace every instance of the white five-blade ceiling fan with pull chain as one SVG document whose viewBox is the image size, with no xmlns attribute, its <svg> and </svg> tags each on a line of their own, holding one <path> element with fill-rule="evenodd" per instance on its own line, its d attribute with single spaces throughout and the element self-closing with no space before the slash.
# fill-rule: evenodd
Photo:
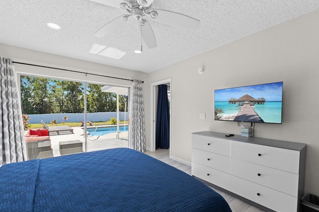
<svg viewBox="0 0 319 212">
<path fill-rule="evenodd" d="M 121 15 L 109 23 L 105 24 L 97 32 L 95 36 L 103 37 L 106 34 L 116 30 L 125 24 L 125 21 L 133 17 L 139 22 L 139 28 L 142 33 L 142 37 L 147 46 L 152 49 L 157 47 L 157 42 L 153 29 L 148 21 L 148 18 L 159 21 L 171 26 L 176 26 L 185 29 L 197 29 L 199 27 L 199 20 L 189 17 L 177 12 L 153 9 L 152 3 L 154 0 L 91 0 L 94 2 L 102 3 L 105 5 L 118 7 L 125 9 L 129 14 Z"/>
</svg>

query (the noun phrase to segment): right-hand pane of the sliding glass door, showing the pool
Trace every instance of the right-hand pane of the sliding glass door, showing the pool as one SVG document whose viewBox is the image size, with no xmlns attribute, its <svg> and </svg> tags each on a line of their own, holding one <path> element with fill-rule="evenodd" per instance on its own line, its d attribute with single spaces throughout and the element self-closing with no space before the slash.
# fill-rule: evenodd
<svg viewBox="0 0 319 212">
<path fill-rule="evenodd" d="M 88 151 L 128 147 L 128 104 L 128 88 L 87 84 Z"/>
</svg>

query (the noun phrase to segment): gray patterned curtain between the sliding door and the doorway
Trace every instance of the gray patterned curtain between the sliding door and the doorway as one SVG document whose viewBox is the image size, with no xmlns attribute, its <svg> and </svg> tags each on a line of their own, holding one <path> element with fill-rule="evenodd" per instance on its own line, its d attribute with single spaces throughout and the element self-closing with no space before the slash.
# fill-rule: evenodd
<svg viewBox="0 0 319 212">
<path fill-rule="evenodd" d="M 132 145 L 133 149 L 145 152 L 145 123 L 142 81 L 133 81 L 133 111 L 132 111 Z"/>
</svg>

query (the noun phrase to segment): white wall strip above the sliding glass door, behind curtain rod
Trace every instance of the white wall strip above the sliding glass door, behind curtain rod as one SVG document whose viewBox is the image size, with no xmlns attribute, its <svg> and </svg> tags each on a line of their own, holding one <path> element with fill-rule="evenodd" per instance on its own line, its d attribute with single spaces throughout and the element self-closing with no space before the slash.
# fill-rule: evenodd
<svg viewBox="0 0 319 212">
<path fill-rule="evenodd" d="M 100 74 L 117 78 L 145 80 L 145 78 L 147 77 L 147 74 L 143 72 L 122 69 L 114 66 L 106 66 L 98 63 L 92 63 L 74 58 L 48 54 L 40 51 L 9 46 L 1 43 L 0 56 L 11 58 L 14 62 L 30 63 L 35 65 L 68 69 L 84 73 Z M 117 80 L 92 75 L 85 76 L 85 74 L 72 73 L 68 71 L 46 69 L 20 64 L 14 65 L 16 67 L 16 71 L 19 73 L 43 75 L 47 77 L 57 77 L 65 80 L 78 80 L 92 83 L 107 83 L 108 85 L 130 86 L 132 83 L 131 81 Z"/>
</svg>

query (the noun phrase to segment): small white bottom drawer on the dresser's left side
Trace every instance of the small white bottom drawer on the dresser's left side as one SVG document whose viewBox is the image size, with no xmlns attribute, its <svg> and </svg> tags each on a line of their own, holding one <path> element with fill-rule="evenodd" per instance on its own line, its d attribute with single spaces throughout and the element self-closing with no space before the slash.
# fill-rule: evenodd
<svg viewBox="0 0 319 212">
<path fill-rule="evenodd" d="M 225 172 L 191 162 L 191 174 L 223 189 L 230 190 L 230 175 Z"/>
</svg>

